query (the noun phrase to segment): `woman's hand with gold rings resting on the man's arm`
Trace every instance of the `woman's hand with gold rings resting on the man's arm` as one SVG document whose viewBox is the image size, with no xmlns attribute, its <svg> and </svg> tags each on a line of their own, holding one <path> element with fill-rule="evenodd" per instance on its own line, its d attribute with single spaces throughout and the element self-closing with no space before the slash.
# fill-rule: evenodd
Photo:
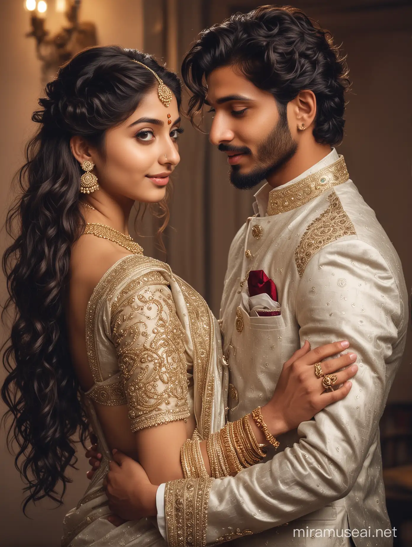
<svg viewBox="0 0 412 547">
<path fill-rule="evenodd" d="M 352 387 L 348 380 L 358 370 L 357 365 L 353 364 L 356 354 L 347 353 L 321 363 L 322 373 L 336 374 L 335 385 L 341 385 L 332 392 L 325 390 L 322 385 L 323 377 L 316 376 L 314 365 L 326 357 L 346 350 L 347 347 L 349 342 L 343 341 L 310 350 L 310 344 L 306 340 L 304 346 L 286 361 L 273 397 L 262 407 L 262 416 L 272 434 L 280 435 L 295 429 L 301 422 L 311 420 L 325 406 L 346 397 Z M 345 370 L 340 370 L 345 366 Z"/>
</svg>

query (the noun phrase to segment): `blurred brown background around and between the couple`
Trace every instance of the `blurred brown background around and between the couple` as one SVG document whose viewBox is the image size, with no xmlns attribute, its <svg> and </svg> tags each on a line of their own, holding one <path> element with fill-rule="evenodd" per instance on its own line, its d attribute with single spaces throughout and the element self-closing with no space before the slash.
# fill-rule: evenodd
<svg viewBox="0 0 412 547">
<path fill-rule="evenodd" d="M 11 179 L 32 135 L 30 121 L 44 84 L 57 67 L 85 46 L 120 44 L 153 54 L 179 72 L 179 63 L 202 28 L 263 2 L 251 0 L 0 0 L 0 224 L 13 198 Z M 411 259 L 411 49 L 409 0 L 296 0 L 294 4 L 328 28 L 342 44 L 350 68 L 344 154 L 350 176 L 375 210 L 412 286 Z M 30 36 L 27 36 L 30 34 Z M 167 261 L 206 298 L 215 314 L 230 242 L 252 212 L 254 191 L 228 182 L 223 154 L 186 121 L 180 141 L 181 164 L 174 177 L 171 222 L 166 231 Z M 255 190 L 256 191 L 256 190 Z M 149 217 L 139 230 L 145 254 L 165 260 L 153 238 Z M 0 252 L 7 239 L 0 232 Z M 0 298 L 5 283 L 0 282 Z M 2 330 L 1 330 L 2 329 Z M 0 327 L 0 335 L 6 332 Z M 412 545 L 412 344 L 381 421 L 387 505 L 398 528 L 395 545 Z M 0 372 L 2 379 L 3 370 Z M 0 405 L 3 413 L 3 406 Z M 0 545 L 54 547 L 62 519 L 86 488 L 86 460 L 79 450 L 65 504 L 45 502 L 21 513 L 22 483 L 0 433 Z"/>
</svg>

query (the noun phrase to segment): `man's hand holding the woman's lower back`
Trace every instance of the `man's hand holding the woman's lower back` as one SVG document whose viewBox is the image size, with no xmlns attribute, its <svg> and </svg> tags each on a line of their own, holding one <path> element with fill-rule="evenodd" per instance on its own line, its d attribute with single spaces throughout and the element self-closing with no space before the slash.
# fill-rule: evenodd
<svg viewBox="0 0 412 547">
<path fill-rule="evenodd" d="M 103 487 L 109 500 L 109 509 L 124 520 L 138 520 L 155 516 L 157 486 L 153 485 L 143 467 L 123 452 L 113 450 L 113 461 Z M 111 517 L 108 519 L 114 525 Z"/>
</svg>

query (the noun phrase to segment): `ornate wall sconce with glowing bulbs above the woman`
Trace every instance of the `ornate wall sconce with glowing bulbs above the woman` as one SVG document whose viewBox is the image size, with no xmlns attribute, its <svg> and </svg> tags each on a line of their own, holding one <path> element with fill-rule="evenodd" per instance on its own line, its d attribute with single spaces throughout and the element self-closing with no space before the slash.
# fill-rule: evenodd
<svg viewBox="0 0 412 547">
<path fill-rule="evenodd" d="M 84 48 L 97 45 L 96 26 L 79 22 L 81 0 L 56 0 L 56 11 L 65 12 L 69 25 L 53 36 L 45 29 L 48 5 L 45 0 L 25 0 L 31 14 L 31 32 L 26 36 L 36 40 L 36 52 L 42 62 L 42 83 L 54 78 L 57 69 Z"/>
</svg>

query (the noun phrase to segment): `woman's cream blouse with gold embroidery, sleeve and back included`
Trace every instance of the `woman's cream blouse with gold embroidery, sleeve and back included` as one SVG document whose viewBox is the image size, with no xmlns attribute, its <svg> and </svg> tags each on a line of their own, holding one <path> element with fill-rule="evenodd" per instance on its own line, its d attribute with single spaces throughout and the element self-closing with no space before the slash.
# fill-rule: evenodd
<svg viewBox="0 0 412 547">
<path fill-rule="evenodd" d="M 127 404 L 134 432 L 189 417 L 193 363 L 185 351 L 171 290 L 160 272 L 127 279 L 127 269 L 123 272 L 121 261 L 116 263 L 92 294 L 86 323 L 96 382 L 86 393 L 90 399 Z"/>
</svg>

